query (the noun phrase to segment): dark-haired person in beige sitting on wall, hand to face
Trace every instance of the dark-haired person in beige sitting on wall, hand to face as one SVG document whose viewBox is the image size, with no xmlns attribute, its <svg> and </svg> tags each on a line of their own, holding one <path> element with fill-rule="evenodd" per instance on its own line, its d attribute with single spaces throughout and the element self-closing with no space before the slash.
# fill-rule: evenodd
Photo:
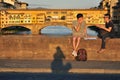
<svg viewBox="0 0 120 80">
<path fill-rule="evenodd" d="M 80 44 L 81 38 L 87 35 L 86 22 L 84 21 L 83 14 L 79 13 L 76 16 L 77 20 L 73 21 L 73 56 L 77 56 L 77 50 Z"/>
</svg>

